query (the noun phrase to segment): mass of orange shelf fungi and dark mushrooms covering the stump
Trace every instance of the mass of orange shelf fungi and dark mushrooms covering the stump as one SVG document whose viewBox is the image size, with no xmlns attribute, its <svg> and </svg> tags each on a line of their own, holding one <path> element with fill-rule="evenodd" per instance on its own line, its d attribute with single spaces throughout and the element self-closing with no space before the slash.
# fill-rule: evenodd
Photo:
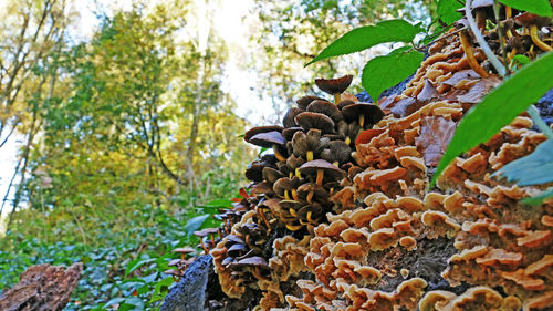
<svg viewBox="0 0 553 311">
<path fill-rule="evenodd" d="M 473 13 L 503 58 L 502 33 L 483 28 L 492 1 L 480 2 Z M 500 7 L 511 54 L 551 46 L 551 20 Z M 316 80 L 328 99 L 302 96 L 282 126 L 246 133 L 274 154 L 246 169 L 249 191 L 221 211 L 220 236 L 202 239 L 227 296 L 273 311 L 553 308 L 553 205 L 522 203 L 547 185 L 494 174 L 546 139 L 528 116 L 427 189 L 463 114 L 500 83 L 471 38 L 446 32 L 385 108 L 346 99 L 351 75 Z"/>
</svg>

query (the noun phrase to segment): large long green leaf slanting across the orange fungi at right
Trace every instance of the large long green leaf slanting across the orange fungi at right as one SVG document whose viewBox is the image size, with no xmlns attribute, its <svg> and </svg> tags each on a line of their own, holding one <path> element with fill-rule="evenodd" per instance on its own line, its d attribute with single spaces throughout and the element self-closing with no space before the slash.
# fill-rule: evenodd
<svg viewBox="0 0 553 311">
<path fill-rule="evenodd" d="M 459 123 L 436 169 L 430 187 L 446 166 L 461 153 L 488 142 L 501 127 L 553 87 L 553 52 L 523 66 L 470 110 Z"/>
</svg>

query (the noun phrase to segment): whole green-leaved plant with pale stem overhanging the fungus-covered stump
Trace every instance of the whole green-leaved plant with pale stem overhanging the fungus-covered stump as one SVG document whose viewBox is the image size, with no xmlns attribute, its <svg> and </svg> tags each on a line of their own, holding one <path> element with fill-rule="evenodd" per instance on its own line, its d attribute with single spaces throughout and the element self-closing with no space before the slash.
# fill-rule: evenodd
<svg viewBox="0 0 553 311">
<path fill-rule="evenodd" d="M 405 43 L 405 46 L 395 49 L 387 55 L 371 59 L 363 69 L 362 84 L 377 103 L 384 90 L 404 81 L 420 66 L 425 58 L 424 50 L 435 42 L 432 41 L 435 38 L 449 30 L 462 17 L 457 12 L 458 9 L 465 8 L 470 24 L 471 2 L 472 0 L 440 0 L 438 17 L 427 29 L 424 29 L 420 23 L 411 24 L 405 20 L 382 21 L 375 25 L 353 29 L 331 43 L 306 65 L 327 58 L 363 51 L 379 43 Z M 495 2 L 541 17 L 552 17 L 549 0 L 500 0 Z M 487 52 L 487 43 L 482 33 L 474 25 L 469 28 L 477 37 L 482 50 Z M 467 27 L 462 28 L 465 29 Z M 417 40 L 419 37 L 424 39 Z M 478 144 L 487 142 L 524 111 L 528 111 L 534 124 L 547 136 L 549 141 L 536 148 L 533 154 L 512 162 L 495 175 L 501 174 L 509 180 L 524 186 L 553 182 L 553 144 L 551 143 L 553 133 L 532 106 L 553 87 L 553 71 L 551 70 L 553 69 L 553 52 L 546 52 L 531 62 L 528 58 L 519 56 L 509 64 L 511 68 L 505 69 L 501 62 L 494 61 L 497 58 L 490 49 L 488 50 L 486 54 L 497 72 L 503 76 L 503 81 L 463 116 L 432 176 L 430 187 L 452 159 Z M 509 74 L 512 71 L 515 71 L 514 74 Z M 540 204 L 550 197 L 553 197 L 553 188 L 546 189 L 538 197 L 526 199 L 525 203 Z"/>
</svg>

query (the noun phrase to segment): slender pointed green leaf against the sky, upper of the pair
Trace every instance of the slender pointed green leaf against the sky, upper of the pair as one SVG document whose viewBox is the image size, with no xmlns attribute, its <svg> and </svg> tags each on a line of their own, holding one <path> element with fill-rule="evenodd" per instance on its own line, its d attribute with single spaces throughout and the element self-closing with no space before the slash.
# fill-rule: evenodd
<svg viewBox="0 0 553 311">
<path fill-rule="evenodd" d="M 376 25 L 359 27 L 332 42 L 305 66 L 332 56 L 359 52 L 379 43 L 411 42 L 420 31 L 420 27 L 404 20 L 389 20 Z"/>
</svg>

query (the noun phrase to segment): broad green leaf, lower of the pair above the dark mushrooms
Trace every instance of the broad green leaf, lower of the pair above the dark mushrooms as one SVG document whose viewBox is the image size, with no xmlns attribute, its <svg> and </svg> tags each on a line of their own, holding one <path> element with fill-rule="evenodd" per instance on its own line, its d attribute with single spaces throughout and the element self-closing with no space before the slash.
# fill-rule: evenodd
<svg viewBox="0 0 553 311">
<path fill-rule="evenodd" d="M 385 56 L 374 58 L 363 69 L 361 76 L 363 87 L 375 103 L 384 90 L 408 77 L 425 59 L 425 54 L 418 51 L 406 51 L 406 49 L 408 48 L 394 50 Z"/>
</svg>

